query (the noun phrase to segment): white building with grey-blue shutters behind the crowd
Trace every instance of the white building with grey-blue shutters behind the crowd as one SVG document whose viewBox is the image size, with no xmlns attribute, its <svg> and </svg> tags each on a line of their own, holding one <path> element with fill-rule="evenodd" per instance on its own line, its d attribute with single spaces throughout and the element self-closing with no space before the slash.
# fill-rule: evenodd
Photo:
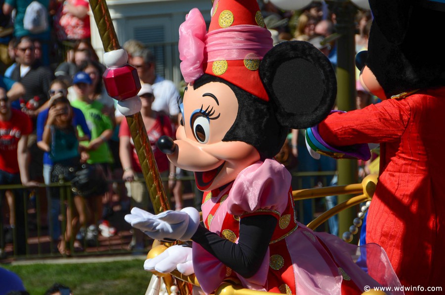
<svg viewBox="0 0 445 295">
<path fill-rule="evenodd" d="M 178 29 L 192 8 L 210 23 L 211 0 L 107 0 L 119 43 L 136 39 L 156 57 L 156 72 L 179 85 Z M 102 58 L 102 42 L 91 14 L 91 43 Z"/>
</svg>

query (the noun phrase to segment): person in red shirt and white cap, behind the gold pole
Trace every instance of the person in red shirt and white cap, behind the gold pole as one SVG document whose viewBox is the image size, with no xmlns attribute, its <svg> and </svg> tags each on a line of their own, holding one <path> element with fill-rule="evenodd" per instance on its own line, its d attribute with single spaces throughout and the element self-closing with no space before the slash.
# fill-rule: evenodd
<svg viewBox="0 0 445 295">
<path fill-rule="evenodd" d="M 142 101 L 140 113 L 142 115 L 142 120 L 144 121 L 145 129 L 147 130 L 148 139 L 153 150 L 158 170 L 163 177 L 168 176 L 169 172 L 170 175 L 175 175 L 175 166 L 169 162 L 167 155 L 156 146 L 156 142 L 161 136 L 173 136 L 172 123 L 167 115 L 155 112 L 151 109 L 151 104 L 155 97 L 150 84 L 143 84 L 138 95 Z M 136 150 L 134 149 L 127 120 L 122 120 L 119 129 L 119 157 L 121 158 L 122 167 L 124 169 L 122 178 L 125 181 L 131 182 L 131 195 L 133 198 L 132 206 L 148 209 L 149 206 L 151 206 L 151 203 L 149 201 L 145 183 L 140 182 L 143 180 L 142 170 Z M 172 190 L 174 185 L 174 180 L 169 177 L 168 188 Z M 153 209 L 151 208 L 150 211 L 152 210 Z M 130 244 L 130 247 L 135 249 L 143 248 L 143 237 L 144 235 L 142 232 L 135 231 L 135 241 Z"/>
</svg>

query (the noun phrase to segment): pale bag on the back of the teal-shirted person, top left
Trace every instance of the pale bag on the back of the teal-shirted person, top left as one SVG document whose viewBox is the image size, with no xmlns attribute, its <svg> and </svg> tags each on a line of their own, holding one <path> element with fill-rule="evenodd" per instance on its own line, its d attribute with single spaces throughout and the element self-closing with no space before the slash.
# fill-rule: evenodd
<svg viewBox="0 0 445 295">
<path fill-rule="evenodd" d="M 38 1 L 32 1 L 26 7 L 23 28 L 33 34 L 39 34 L 45 32 L 48 26 L 48 11 L 46 7 Z"/>
</svg>

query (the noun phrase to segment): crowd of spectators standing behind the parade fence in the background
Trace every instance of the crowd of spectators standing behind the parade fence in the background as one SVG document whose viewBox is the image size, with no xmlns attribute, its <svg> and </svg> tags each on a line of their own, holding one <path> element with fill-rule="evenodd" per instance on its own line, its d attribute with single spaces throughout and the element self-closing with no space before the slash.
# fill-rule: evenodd
<svg viewBox="0 0 445 295">
<path fill-rule="evenodd" d="M 150 202 L 144 184 L 138 182 L 141 169 L 127 122 L 102 82 L 105 66 L 90 43 L 88 1 L 38 0 L 50 19 L 39 28 L 26 26 L 31 2 L 4 0 L 0 13 L 0 185 L 49 185 L 61 177 L 82 183 L 82 177 L 91 173 L 80 168 L 83 163 L 93 167 L 96 176 L 108 180 L 101 192 L 87 185 L 74 190 L 73 208 L 66 211 L 71 221 L 66 229 L 61 228 L 58 218 L 61 204 L 57 190 L 46 190 L 49 236 L 57 241 L 58 250 L 66 253 L 65 242 L 71 238 L 94 242 L 99 231 L 106 237 L 115 233 L 106 221 L 112 211 L 112 178 L 122 177 L 128 183 L 128 196 L 134 204 L 148 209 Z M 336 39 L 324 42 L 335 35 L 335 14 L 324 1 L 314 1 L 302 11 L 282 11 L 267 0 L 259 2 L 274 43 L 308 41 L 336 66 Z M 370 21 L 368 12 L 358 12 L 357 50 L 367 47 Z M 174 193 L 175 208 L 181 209 L 183 184 L 176 179 L 188 172 L 171 165 L 155 145 L 160 136 L 175 134 L 180 114 L 178 89 L 156 74 L 155 57 L 143 44 L 129 40 L 124 49 L 141 81 L 141 114 L 159 171 L 168 179 L 165 187 Z M 357 105 L 371 103 L 364 89 L 357 90 Z M 303 137 L 298 137 L 298 132 L 292 134 L 289 147 L 293 156 L 299 157 L 299 170 L 318 169 L 312 162 L 308 164 L 311 167 L 302 166 L 304 152 L 299 150 Z M 335 163 L 328 166 L 328 170 L 335 170 Z M 78 173 L 82 170 L 84 174 Z M 11 191 L 0 190 L 0 194 L 9 208 L 10 218 L 3 221 L 22 239 L 17 242 L 18 254 L 23 254 L 23 199 L 14 198 Z M 199 206 L 202 195 L 196 195 Z M 0 206 L 0 210 L 6 209 Z M 130 247 L 142 248 L 142 237 L 135 235 Z M 3 248 L 0 245 L 0 250 Z"/>
</svg>

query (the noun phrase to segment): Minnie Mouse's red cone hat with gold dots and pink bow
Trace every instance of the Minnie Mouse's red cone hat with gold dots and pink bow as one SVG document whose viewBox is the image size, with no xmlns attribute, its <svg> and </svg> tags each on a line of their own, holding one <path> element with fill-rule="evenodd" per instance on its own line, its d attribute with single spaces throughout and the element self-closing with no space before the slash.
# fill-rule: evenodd
<svg viewBox="0 0 445 295">
<path fill-rule="evenodd" d="M 198 9 L 179 28 L 179 57 L 186 82 L 218 76 L 268 101 L 258 68 L 273 47 L 256 0 L 215 0 L 209 32 Z"/>
</svg>

